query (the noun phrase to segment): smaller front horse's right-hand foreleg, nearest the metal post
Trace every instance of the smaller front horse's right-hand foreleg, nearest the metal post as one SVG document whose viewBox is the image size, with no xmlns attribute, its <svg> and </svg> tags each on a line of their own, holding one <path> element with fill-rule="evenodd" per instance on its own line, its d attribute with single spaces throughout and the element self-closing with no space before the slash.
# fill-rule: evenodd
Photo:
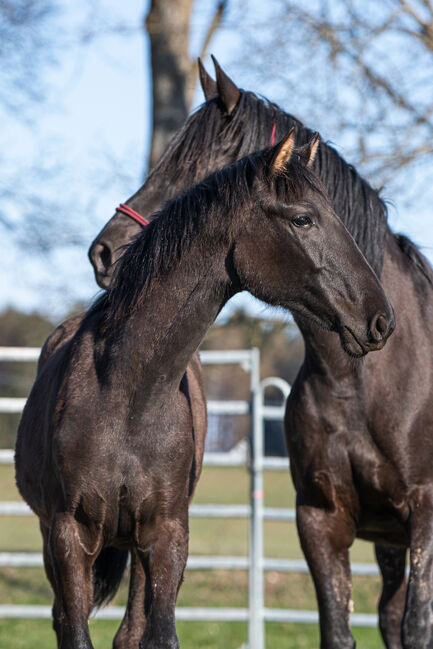
<svg viewBox="0 0 433 649">
<path fill-rule="evenodd" d="M 175 606 L 188 556 L 188 520 L 165 521 L 149 551 L 139 550 L 146 573 L 146 628 L 140 649 L 179 649 Z"/>
</svg>

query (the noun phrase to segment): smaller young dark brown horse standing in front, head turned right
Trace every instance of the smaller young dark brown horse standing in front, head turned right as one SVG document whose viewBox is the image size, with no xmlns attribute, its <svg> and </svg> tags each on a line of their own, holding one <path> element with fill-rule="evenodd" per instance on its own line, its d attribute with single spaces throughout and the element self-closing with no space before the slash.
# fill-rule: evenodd
<svg viewBox="0 0 433 649">
<path fill-rule="evenodd" d="M 142 649 L 179 646 L 195 475 L 183 376 L 232 295 L 249 290 L 336 331 L 353 356 L 391 334 L 377 277 L 302 161 L 316 147 L 290 160 L 291 133 L 168 203 L 41 367 L 18 431 L 16 477 L 40 519 L 62 649 L 92 647 L 92 566 L 112 547 L 131 549 L 146 575 L 144 592 L 130 589 L 133 638 L 138 626 Z"/>
</svg>

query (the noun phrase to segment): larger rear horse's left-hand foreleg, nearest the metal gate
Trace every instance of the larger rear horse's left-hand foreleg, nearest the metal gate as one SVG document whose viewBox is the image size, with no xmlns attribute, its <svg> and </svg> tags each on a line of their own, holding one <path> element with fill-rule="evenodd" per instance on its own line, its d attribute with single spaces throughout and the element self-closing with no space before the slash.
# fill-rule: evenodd
<svg viewBox="0 0 433 649">
<path fill-rule="evenodd" d="M 350 526 L 339 513 L 297 504 L 301 546 L 316 588 L 321 649 L 354 649 L 350 632 Z"/>
</svg>

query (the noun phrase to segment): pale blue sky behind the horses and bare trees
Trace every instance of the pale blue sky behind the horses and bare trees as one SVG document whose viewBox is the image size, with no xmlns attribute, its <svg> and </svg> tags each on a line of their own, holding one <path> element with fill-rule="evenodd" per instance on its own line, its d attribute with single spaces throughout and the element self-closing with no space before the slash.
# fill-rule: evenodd
<svg viewBox="0 0 433 649">
<path fill-rule="evenodd" d="M 104 10 L 127 16 L 134 29 L 125 35 L 107 35 L 88 46 L 71 46 L 60 57 L 58 66 L 46 73 L 51 91 L 46 103 L 34 105 L 32 121 L 23 124 L 11 114 L 2 115 L 0 136 L 2 163 L 6 177 L 20 174 L 27 182 L 26 169 L 42 161 L 34 193 L 56 198 L 61 195 L 63 209 L 59 221 L 67 230 L 77 226 L 85 243 L 81 246 L 56 245 L 40 254 L 31 241 L 25 247 L 14 243 L 14 236 L 2 231 L 6 244 L 0 284 L 0 309 L 15 306 L 26 311 L 38 309 L 54 319 L 61 318 L 78 300 L 89 303 L 98 289 L 87 261 L 87 248 L 93 237 L 110 218 L 115 206 L 128 198 L 142 184 L 144 159 L 149 143 L 150 77 L 148 43 L 139 29 L 145 13 L 143 0 L 125 0 L 121 8 L 115 0 L 105 0 Z M 78 19 L 72 0 L 65 6 L 71 20 Z M 213 3 L 198 0 L 192 19 L 191 52 L 196 55 Z M 123 14 L 123 16 L 122 16 Z M 211 51 L 243 87 L 249 71 L 239 61 L 239 42 L 233 29 L 221 31 L 213 40 Z M 209 69 L 209 59 L 206 60 Z M 280 101 L 279 88 L 272 84 L 266 66 L 259 90 L 270 99 Z M 260 71 L 260 70 L 259 70 Z M 255 70 L 257 73 L 257 70 Z M 201 102 L 196 92 L 195 104 Z M 283 107 L 299 115 L 296 106 L 282 102 Z M 307 115 L 300 117 L 306 120 Z M 321 128 L 317 124 L 309 124 Z M 322 130 L 322 129 L 321 129 Z M 344 155 L 344 143 L 338 134 L 323 133 L 332 139 Z M 53 170 L 55 174 L 53 175 Z M 54 178 L 54 180 L 53 180 Z M 35 181 L 33 181 L 35 182 Z M 417 171 L 412 173 L 417 182 Z M 387 192 L 385 191 L 385 195 Z M 433 225 L 430 205 L 416 211 L 402 208 L 400 196 L 393 195 L 390 208 L 391 226 L 408 234 L 433 260 Z M 21 228 L 17 203 L 8 204 L 9 214 Z M 61 227 L 63 227 L 63 225 Z M 252 312 L 262 312 L 263 305 L 245 302 Z M 233 307 L 232 307 L 233 308 Z"/>
</svg>

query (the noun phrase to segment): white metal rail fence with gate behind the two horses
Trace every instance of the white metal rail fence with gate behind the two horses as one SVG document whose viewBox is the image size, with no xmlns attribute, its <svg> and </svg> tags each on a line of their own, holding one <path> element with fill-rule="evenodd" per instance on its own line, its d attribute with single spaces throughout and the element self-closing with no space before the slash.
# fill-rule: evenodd
<svg viewBox="0 0 433 649">
<path fill-rule="evenodd" d="M 38 348 L 0 347 L 1 361 L 36 361 Z M 203 365 L 225 364 L 240 365 L 250 375 L 250 401 L 208 401 L 208 412 L 224 415 L 251 415 L 250 452 L 247 446 L 230 453 L 205 453 L 205 466 L 239 466 L 249 467 L 251 490 L 249 505 L 191 505 L 190 516 L 197 518 L 248 518 L 250 520 L 249 556 L 190 556 L 188 570 L 248 570 L 249 571 L 249 606 L 248 608 L 212 608 L 212 607 L 178 607 L 176 618 L 190 621 L 224 621 L 248 622 L 249 649 L 265 648 L 265 622 L 317 623 L 316 611 L 290 609 L 269 609 L 264 602 L 264 572 L 307 573 L 305 561 L 297 559 L 269 559 L 264 556 L 263 534 L 264 522 L 267 520 L 294 521 L 293 509 L 270 508 L 264 506 L 263 471 L 287 471 L 287 458 L 265 457 L 263 453 L 265 420 L 281 420 L 284 416 L 284 402 L 290 386 L 280 378 L 270 377 L 260 382 L 260 355 L 258 349 L 237 351 L 203 351 Z M 269 387 L 277 388 L 282 394 L 281 406 L 266 406 L 265 391 Z M 25 399 L 0 398 L 0 413 L 19 413 Z M 0 450 L 0 464 L 13 463 L 13 451 Z M 289 479 L 289 477 L 288 477 Z M 24 502 L 0 502 L 0 515 L 33 516 Z M 0 552 L 0 567 L 39 567 L 42 566 L 42 555 L 30 552 Z M 374 564 L 352 563 L 354 575 L 378 575 Z M 118 619 L 124 609 L 110 606 L 100 610 L 96 617 Z M 0 618 L 49 618 L 49 606 L 1 605 Z M 369 614 L 352 614 L 353 626 L 377 626 L 377 616 Z"/>
</svg>

